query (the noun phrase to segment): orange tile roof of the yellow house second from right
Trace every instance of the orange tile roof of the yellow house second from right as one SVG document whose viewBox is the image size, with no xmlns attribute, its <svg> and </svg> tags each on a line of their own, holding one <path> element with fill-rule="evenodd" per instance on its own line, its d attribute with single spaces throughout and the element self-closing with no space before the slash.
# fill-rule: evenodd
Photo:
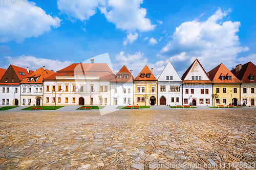
<svg viewBox="0 0 256 170">
<path fill-rule="evenodd" d="M 210 70 L 208 74 L 214 83 L 242 83 L 223 63 Z M 231 76 L 231 80 L 227 80 L 227 75 Z M 225 80 L 221 80 L 221 76 L 225 76 Z"/>
</svg>

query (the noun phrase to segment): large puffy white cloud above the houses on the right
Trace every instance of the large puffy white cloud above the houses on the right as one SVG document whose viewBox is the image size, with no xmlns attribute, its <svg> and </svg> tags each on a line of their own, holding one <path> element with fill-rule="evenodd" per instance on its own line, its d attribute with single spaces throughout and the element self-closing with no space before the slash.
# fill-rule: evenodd
<svg viewBox="0 0 256 170">
<path fill-rule="evenodd" d="M 238 53 L 248 51 L 249 48 L 241 47 L 236 35 L 239 32 L 240 22 L 218 23 L 230 11 L 222 12 L 218 9 L 206 21 L 195 19 L 183 22 L 176 28 L 173 40 L 169 41 L 161 52 L 169 56 L 170 61 L 175 62 L 189 61 L 191 64 L 198 58 L 206 71 L 221 62 L 227 67 L 232 67 Z"/>
</svg>

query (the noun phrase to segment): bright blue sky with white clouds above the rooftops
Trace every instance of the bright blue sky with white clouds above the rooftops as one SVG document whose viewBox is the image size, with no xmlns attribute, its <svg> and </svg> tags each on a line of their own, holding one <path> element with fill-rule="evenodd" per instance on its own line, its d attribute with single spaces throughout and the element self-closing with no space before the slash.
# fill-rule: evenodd
<svg viewBox="0 0 256 170">
<path fill-rule="evenodd" d="M 1 2 L 0 2 L 1 3 Z M 256 64 L 255 1 L 58 0 L 0 4 L 0 67 L 58 70 L 109 53 L 113 69 L 157 77 L 168 61 L 181 76 L 198 58 Z M 100 62 L 97 61 L 96 62 Z"/>
</svg>

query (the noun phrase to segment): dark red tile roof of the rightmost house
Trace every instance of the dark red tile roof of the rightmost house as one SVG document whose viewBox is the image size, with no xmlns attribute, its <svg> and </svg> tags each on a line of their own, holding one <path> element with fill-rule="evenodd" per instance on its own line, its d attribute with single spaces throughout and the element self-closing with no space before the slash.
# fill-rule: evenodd
<svg viewBox="0 0 256 170">
<path fill-rule="evenodd" d="M 231 70 L 239 80 L 242 80 L 243 83 L 256 83 L 256 66 L 252 62 L 248 62 L 242 65 L 242 68 L 236 72 L 236 68 Z M 250 80 L 249 76 L 254 76 L 254 80 Z"/>
</svg>

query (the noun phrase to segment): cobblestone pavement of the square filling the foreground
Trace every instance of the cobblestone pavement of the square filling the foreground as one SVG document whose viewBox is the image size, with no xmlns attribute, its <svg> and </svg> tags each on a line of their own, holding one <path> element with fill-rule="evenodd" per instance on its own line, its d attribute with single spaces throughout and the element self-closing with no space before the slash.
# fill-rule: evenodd
<svg viewBox="0 0 256 170">
<path fill-rule="evenodd" d="M 254 169 L 255 116 L 252 109 L 1 112 L 0 169 Z"/>
</svg>

